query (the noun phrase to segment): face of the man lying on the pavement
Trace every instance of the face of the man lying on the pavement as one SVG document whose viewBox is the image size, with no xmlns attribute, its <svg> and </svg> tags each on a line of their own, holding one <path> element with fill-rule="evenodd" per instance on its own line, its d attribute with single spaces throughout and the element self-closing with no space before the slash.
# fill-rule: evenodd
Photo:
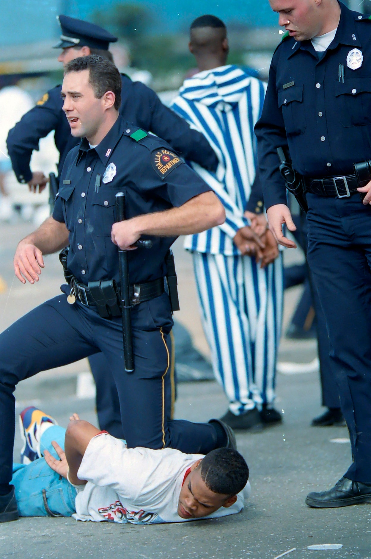
<svg viewBox="0 0 371 559">
<path fill-rule="evenodd" d="M 197 467 L 201 460 L 191 466 L 180 490 L 178 514 L 180 518 L 206 517 L 221 506 L 228 508 L 237 501 L 237 496 L 221 495 L 211 491 L 201 477 L 201 467 Z"/>
</svg>

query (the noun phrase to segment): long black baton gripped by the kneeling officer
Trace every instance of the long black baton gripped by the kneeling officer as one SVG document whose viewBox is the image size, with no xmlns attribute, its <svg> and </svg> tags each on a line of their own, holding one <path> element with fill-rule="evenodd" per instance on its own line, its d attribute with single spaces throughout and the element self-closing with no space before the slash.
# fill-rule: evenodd
<svg viewBox="0 0 371 559">
<path fill-rule="evenodd" d="M 126 219 L 126 200 L 123 192 L 116 195 L 117 221 Z M 129 290 L 129 268 L 126 250 L 118 249 L 118 264 L 121 285 L 121 312 L 122 312 L 122 334 L 124 341 L 124 362 L 127 373 L 134 372 L 132 323 L 130 314 L 130 290 Z"/>
</svg>

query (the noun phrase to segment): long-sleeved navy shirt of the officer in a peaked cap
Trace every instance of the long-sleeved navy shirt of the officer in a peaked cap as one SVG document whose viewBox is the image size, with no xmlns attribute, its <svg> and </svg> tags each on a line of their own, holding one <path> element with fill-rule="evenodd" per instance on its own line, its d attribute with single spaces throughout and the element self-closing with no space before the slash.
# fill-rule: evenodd
<svg viewBox="0 0 371 559">
<path fill-rule="evenodd" d="M 132 82 L 127 75 L 122 74 L 121 77 L 120 113 L 126 121 L 164 139 L 185 159 L 212 171 L 216 169 L 218 158 L 200 132 L 192 130 L 184 119 L 165 107 L 152 89 L 141 82 Z M 19 182 L 31 180 L 32 151 L 38 149 L 40 138 L 44 138 L 52 130 L 55 130 L 54 141 L 60 153 L 57 165 L 59 174 L 66 155 L 79 143 L 79 139 L 71 136 L 62 106 L 61 86 L 56 86 L 45 93 L 36 106 L 9 131 L 7 148 Z"/>
</svg>

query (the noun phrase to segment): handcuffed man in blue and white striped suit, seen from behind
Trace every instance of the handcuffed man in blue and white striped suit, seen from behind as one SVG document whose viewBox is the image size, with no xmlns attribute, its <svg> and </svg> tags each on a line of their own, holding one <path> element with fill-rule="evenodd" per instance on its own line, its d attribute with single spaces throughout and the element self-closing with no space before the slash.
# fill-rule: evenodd
<svg viewBox="0 0 371 559">
<path fill-rule="evenodd" d="M 216 175 L 192 167 L 223 202 L 227 220 L 187 236 L 185 248 L 194 261 L 214 373 L 230 402 L 222 419 L 234 429 L 258 430 L 281 421 L 273 401 L 282 258 L 266 226 L 253 131 L 266 87 L 225 65 L 227 29 L 219 18 L 197 18 L 189 46 L 200 72 L 185 80 L 172 108 L 205 134 L 218 155 Z"/>
</svg>

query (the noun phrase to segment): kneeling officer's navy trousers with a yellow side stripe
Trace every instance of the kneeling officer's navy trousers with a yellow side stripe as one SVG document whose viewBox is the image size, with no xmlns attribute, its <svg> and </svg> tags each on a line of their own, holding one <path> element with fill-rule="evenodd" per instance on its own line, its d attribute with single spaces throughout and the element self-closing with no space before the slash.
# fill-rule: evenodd
<svg viewBox="0 0 371 559">
<path fill-rule="evenodd" d="M 36 307 L 0 335 L 0 484 L 12 479 L 18 381 L 101 351 L 112 371 L 128 447 L 177 448 L 206 454 L 216 446 L 210 424 L 168 421 L 171 389 L 170 330 L 166 293 L 132 309 L 134 372 L 123 362 L 121 318 L 106 320 L 64 293 Z M 110 372 L 109 371 L 109 372 Z"/>
</svg>

